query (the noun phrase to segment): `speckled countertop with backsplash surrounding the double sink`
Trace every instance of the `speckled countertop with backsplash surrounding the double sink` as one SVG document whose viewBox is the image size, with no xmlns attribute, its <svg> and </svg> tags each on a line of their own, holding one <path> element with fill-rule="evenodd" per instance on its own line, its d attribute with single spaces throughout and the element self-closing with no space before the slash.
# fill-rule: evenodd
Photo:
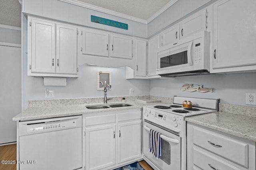
<svg viewBox="0 0 256 170">
<path fill-rule="evenodd" d="M 13 121 L 28 121 L 36 119 L 47 119 L 52 117 L 65 117 L 73 115 L 82 115 L 88 113 L 98 113 L 104 111 L 119 111 L 128 109 L 141 109 L 143 106 L 152 104 L 161 104 L 160 102 L 147 103 L 143 101 L 162 101 L 163 103 L 171 103 L 172 98 L 164 98 L 157 96 L 125 96 L 127 102 L 132 104 L 127 107 L 114 107 L 106 109 L 87 109 L 86 106 L 94 105 L 111 105 L 124 104 L 120 102 L 122 97 L 113 97 L 108 104 L 103 104 L 103 98 L 77 98 L 77 99 L 56 99 L 56 100 L 31 100 L 28 109 L 12 118 Z M 139 102 L 139 101 L 142 102 Z"/>
</svg>

